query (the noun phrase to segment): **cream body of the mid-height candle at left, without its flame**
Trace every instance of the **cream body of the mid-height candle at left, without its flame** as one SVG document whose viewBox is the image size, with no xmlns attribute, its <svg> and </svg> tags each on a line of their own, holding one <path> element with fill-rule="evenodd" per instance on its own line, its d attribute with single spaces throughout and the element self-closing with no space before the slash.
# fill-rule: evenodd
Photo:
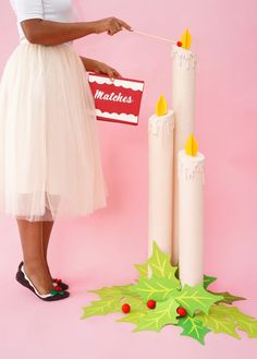
<svg viewBox="0 0 257 359">
<path fill-rule="evenodd" d="M 152 241 L 171 255 L 173 198 L 173 129 L 174 112 L 154 115 L 148 122 L 149 203 L 148 256 Z"/>
</svg>

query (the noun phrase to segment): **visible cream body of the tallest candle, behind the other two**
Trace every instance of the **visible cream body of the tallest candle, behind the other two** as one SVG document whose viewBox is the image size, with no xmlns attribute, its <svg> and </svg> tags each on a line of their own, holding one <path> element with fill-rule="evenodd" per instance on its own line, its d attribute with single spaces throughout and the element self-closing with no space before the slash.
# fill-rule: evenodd
<svg viewBox="0 0 257 359">
<path fill-rule="evenodd" d="M 172 47 L 172 108 L 175 113 L 174 131 L 174 194 L 172 263 L 179 262 L 179 183 L 178 153 L 185 147 L 195 131 L 195 72 L 196 55 L 174 45 Z"/>
</svg>

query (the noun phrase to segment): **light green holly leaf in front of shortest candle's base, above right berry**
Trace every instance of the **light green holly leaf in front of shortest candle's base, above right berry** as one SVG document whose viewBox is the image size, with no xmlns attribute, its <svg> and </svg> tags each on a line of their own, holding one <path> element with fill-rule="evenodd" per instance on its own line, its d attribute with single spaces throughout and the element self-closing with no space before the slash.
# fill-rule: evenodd
<svg viewBox="0 0 257 359">
<path fill-rule="evenodd" d="M 194 315 L 196 310 L 208 314 L 209 308 L 218 300 L 223 299 L 222 296 L 212 295 L 207 291 L 201 284 L 195 287 L 185 285 L 180 292 L 174 294 L 174 297 L 191 316 Z"/>
</svg>

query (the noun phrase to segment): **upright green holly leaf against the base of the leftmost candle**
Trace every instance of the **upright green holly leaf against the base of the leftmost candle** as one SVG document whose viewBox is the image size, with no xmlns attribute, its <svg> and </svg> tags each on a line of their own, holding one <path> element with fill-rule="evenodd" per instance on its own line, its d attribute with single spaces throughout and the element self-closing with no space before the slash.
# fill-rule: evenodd
<svg viewBox="0 0 257 359">
<path fill-rule="evenodd" d="M 148 259 L 148 264 L 154 277 L 176 279 L 178 284 L 180 284 L 180 280 L 175 277 L 178 266 L 171 265 L 170 255 L 162 252 L 156 241 L 152 241 L 152 254 Z"/>
</svg>

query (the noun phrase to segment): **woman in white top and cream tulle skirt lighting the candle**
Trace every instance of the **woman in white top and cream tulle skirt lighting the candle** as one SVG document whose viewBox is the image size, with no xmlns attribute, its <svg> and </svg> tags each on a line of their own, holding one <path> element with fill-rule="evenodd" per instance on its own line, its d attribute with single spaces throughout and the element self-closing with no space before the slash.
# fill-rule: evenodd
<svg viewBox="0 0 257 359">
<path fill-rule="evenodd" d="M 0 85 L 0 211 L 15 216 L 23 262 L 16 279 L 47 301 L 69 297 L 47 249 L 57 218 L 106 206 L 94 98 L 86 71 L 119 76 L 73 49 L 74 39 L 131 31 L 108 17 L 73 22 L 72 0 L 11 0 L 20 44 Z"/>
</svg>

